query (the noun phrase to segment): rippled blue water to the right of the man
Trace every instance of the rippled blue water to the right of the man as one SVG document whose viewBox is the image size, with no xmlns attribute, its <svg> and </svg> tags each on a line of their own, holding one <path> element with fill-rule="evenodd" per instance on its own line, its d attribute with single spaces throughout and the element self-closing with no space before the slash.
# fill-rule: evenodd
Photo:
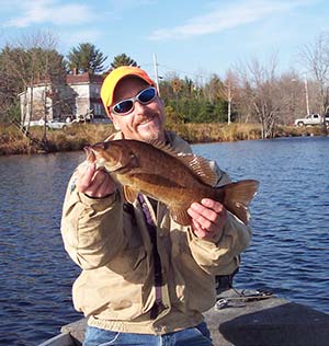
<svg viewBox="0 0 329 346">
<path fill-rule="evenodd" d="M 329 312 L 329 138 L 195 146 L 234 180 L 257 178 L 253 240 L 237 275 L 241 288 L 270 289 Z"/>
</svg>

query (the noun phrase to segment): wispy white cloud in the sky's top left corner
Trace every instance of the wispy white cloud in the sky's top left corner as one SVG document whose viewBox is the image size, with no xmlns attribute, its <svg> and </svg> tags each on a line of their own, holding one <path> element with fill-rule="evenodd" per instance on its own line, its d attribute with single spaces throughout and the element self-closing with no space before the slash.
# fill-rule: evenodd
<svg viewBox="0 0 329 346">
<path fill-rule="evenodd" d="M 87 4 L 59 3 L 56 0 L 22 1 L 22 14 L 3 23 L 3 26 L 27 27 L 34 24 L 72 25 L 90 22 L 95 15 Z M 20 9 L 19 9 L 20 10 Z"/>
</svg>

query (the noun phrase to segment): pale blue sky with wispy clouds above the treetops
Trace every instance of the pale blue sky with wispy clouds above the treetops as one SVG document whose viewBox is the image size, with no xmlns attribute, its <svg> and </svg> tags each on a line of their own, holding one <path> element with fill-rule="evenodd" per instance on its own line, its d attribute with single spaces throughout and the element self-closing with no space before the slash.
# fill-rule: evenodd
<svg viewBox="0 0 329 346">
<path fill-rule="evenodd" d="M 36 31 L 58 37 L 67 55 L 90 42 L 107 62 L 127 54 L 154 76 L 194 79 L 239 61 L 277 56 L 298 69 L 298 50 L 329 31 L 327 0 L 0 0 L 0 47 Z"/>
</svg>

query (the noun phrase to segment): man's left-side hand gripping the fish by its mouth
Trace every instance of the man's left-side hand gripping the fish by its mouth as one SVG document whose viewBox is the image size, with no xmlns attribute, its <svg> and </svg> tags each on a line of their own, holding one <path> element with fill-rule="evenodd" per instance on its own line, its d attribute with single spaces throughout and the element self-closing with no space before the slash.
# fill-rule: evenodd
<svg viewBox="0 0 329 346">
<path fill-rule="evenodd" d="M 97 170 L 95 162 L 83 162 L 77 172 L 76 186 L 80 193 L 92 197 L 102 198 L 113 194 L 115 183 L 105 170 Z"/>
</svg>

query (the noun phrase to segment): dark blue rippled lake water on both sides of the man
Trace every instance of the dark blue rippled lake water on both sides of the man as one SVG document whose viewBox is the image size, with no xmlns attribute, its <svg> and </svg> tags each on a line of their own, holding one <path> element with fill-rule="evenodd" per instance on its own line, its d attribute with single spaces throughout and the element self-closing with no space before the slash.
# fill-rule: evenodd
<svg viewBox="0 0 329 346">
<path fill-rule="evenodd" d="M 235 286 L 271 290 L 329 312 L 329 138 L 193 146 L 232 180 L 257 178 L 253 242 Z M 71 304 L 79 268 L 59 222 L 82 152 L 0 157 L 0 345 L 32 346 L 81 318 Z"/>
</svg>

